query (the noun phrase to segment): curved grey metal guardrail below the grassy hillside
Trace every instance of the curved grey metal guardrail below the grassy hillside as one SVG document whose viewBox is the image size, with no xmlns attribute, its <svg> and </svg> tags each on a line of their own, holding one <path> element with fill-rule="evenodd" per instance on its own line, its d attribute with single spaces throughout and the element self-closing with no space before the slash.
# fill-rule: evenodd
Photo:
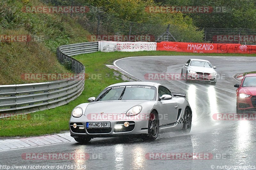
<svg viewBox="0 0 256 170">
<path fill-rule="evenodd" d="M 96 50 L 97 49 L 97 50 Z M 0 117 L 55 108 L 76 99 L 84 90 L 84 65 L 69 56 L 98 51 L 98 42 L 86 42 L 57 48 L 59 61 L 72 63 L 76 76 L 43 83 L 0 85 Z"/>
</svg>

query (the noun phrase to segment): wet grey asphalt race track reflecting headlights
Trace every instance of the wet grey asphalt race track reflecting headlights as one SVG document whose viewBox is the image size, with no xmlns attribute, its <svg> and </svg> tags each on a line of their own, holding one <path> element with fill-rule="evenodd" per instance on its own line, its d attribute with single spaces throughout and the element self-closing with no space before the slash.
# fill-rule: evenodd
<svg viewBox="0 0 256 170">
<path fill-rule="evenodd" d="M 224 75 L 216 85 L 208 82 L 155 80 L 173 92 L 187 94 L 193 111 L 189 135 L 164 133 L 153 142 L 140 139 L 96 138 L 90 144 L 70 142 L 0 152 L 0 165 L 86 165 L 86 169 L 238 169 L 256 168 L 256 121 L 214 120 L 216 113 L 236 113 L 233 76 L 255 71 L 256 57 L 158 56 L 116 61 L 116 65 L 142 81 L 146 73 L 180 73 L 190 58 L 209 60 L 217 73 Z M 26 160 L 22 153 L 89 153 L 89 160 Z M 209 153 L 209 160 L 148 160 L 147 153 Z M 98 159 L 97 159 L 98 157 Z M 207 159 L 207 156 L 204 157 Z M 224 166 L 221 168 L 221 166 Z M 248 167 L 247 167 L 248 168 Z M 60 168 L 59 168 L 60 169 Z M 66 169 L 68 169 L 66 167 Z M 84 169 L 76 168 L 76 169 Z"/>
</svg>

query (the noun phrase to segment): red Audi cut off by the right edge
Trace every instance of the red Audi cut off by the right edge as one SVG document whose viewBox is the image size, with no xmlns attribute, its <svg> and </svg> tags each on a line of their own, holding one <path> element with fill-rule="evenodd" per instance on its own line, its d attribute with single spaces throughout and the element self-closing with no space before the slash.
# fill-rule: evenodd
<svg viewBox="0 0 256 170">
<path fill-rule="evenodd" d="M 246 74 L 236 87 L 236 113 L 256 110 L 256 74 Z"/>
</svg>

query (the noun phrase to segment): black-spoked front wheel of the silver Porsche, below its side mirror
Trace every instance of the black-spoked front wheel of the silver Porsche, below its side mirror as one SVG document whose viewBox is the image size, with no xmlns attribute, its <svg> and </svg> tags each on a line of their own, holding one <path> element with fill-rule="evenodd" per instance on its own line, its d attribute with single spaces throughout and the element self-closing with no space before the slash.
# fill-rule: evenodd
<svg viewBox="0 0 256 170">
<path fill-rule="evenodd" d="M 142 135 L 142 139 L 147 140 L 156 140 L 159 133 L 159 117 L 156 111 L 152 111 L 149 115 L 148 120 L 148 134 Z"/>
</svg>

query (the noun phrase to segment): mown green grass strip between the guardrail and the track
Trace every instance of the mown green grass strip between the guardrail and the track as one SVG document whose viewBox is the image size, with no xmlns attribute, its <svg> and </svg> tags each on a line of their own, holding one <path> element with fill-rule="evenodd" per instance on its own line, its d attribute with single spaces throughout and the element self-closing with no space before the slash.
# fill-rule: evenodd
<svg viewBox="0 0 256 170">
<path fill-rule="evenodd" d="M 211 55 L 211 56 L 245 56 L 244 54 L 195 54 L 195 53 L 177 53 L 167 51 L 144 51 L 144 52 L 111 52 L 111 53 L 90 53 L 78 55 L 75 58 L 81 61 L 86 69 L 85 72 L 89 78 L 85 80 L 85 88 L 81 96 L 76 100 L 50 110 L 39 111 L 31 113 L 26 116 L 18 117 L 18 120 L 4 120 L 0 119 L 0 136 L 36 136 L 44 134 L 58 133 L 67 131 L 68 121 L 72 109 L 80 104 L 87 102 L 87 99 L 92 96 L 97 96 L 101 90 L 110 84 L 123 82 L 123 80 L 114 75 L 113 69 L 105 66 L 105 64 L 112 64 L 114 60 L 131 57 L 131 56 L 161 56 L 161 55 Z M 256 56 L 246 55 L 246 56 Z M 101 79 L 93 80 L 92 74 L 101 74 Z M 41 117 L 40 117 L 41 116 Z M 30 119 L 28 119 L 28 118 Z M 36 117 L 36 119 L 34 118 Z M 14 117 L 12 117 L 13 119 Z"/>
</svg>

